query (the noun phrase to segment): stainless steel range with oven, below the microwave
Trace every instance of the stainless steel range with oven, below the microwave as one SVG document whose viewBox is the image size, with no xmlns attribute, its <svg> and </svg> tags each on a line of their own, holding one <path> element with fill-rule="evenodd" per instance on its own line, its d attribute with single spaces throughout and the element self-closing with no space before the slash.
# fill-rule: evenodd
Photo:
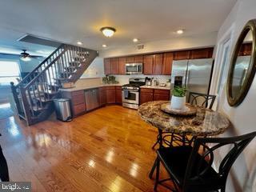
<svg viewBox="0 0 256 192">
<path fill-rule="evenodd" d="M 129 78 L 129 84 L 122 86 L 122 106 L 138 109 L 139 87 L 145 84 L 145 78 Z"/>
</svg>

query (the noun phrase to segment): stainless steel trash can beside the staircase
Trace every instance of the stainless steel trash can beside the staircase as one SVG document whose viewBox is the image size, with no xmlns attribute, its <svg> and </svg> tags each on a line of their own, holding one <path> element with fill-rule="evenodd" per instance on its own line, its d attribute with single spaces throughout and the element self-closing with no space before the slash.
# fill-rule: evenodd
<svg viewBox="0 0 256 192">
<path fill-rule="evenodd" d="M 54 106 L 55 106 L 56 117 L 59 120 L 61 120 L 62 122 L 72 121 L 69 98 L 55 98 Z"/>
</svg>

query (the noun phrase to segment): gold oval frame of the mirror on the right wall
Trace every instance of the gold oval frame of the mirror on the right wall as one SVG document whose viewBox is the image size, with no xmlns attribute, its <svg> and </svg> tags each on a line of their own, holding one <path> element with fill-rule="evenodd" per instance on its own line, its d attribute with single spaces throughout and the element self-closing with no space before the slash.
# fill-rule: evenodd
<svg viewBox="0 0 256 192">
<path fill-rule="evenodd" d="M 244 38 L 246 38 L 247 33 L 251 31 L 253 42 L 252 42 L 252 50 L 251 50 L 251 56 L 250 56 L 250 63 L 248 67 L 248 73 L 246 74 L 245 81 L 242 84 L 242 88 L 239 91 L 239 94 L 236 95 L 235 98 L 232 97 L 232 80 L 234 76 L 234 67 L 238 58 L 240 46 L 242 46 L 242 42 Z M 246 98 L 246 94 L 250 90 L 251 83 L 254 80 L 254 74 L 256 71 L 256 19 L 250 20 L 246 23 L 246 26 L 244 26 L 241 34 L 239 35 L 238 42 L 234 46 L 234 51 L 232 54 L 232 58 L 230 61 L 230 70 L 227 78 L 227 84 L 226 84 L 226 97 L 230 104 L 230 106 L 238 106 L 241 104 L 241 102 Z"/>
</svg>

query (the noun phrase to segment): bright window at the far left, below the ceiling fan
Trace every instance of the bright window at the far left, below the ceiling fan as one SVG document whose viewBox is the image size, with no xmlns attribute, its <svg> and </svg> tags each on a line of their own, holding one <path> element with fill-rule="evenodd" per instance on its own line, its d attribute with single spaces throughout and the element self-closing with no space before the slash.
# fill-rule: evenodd
<svg viewBox="0 0 256 192">
<path fill-rule="evenodd" d="M 10 82 L 18 83 L 20 78 L 18 61 L 0 60 L 0 86 L 10 86 Z"/>
</svg>

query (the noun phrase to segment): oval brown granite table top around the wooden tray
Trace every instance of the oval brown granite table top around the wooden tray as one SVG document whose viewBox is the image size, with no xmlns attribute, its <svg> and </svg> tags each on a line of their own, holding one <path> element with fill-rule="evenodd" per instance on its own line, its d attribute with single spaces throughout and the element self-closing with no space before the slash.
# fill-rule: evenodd
<svg viewBox="0 0 256 192">
<path fill-rule="evenodd" d="M 138 114 L 158 129 L 174 134 L 211 136 L 222 134 L 230 126 L 229 119 L 214 110 L 197 106 L 194 116 L 177 116 L 163 112 L 163 103 L 166 101 L 146 102 L 138 107 Z"/>
</svg>

